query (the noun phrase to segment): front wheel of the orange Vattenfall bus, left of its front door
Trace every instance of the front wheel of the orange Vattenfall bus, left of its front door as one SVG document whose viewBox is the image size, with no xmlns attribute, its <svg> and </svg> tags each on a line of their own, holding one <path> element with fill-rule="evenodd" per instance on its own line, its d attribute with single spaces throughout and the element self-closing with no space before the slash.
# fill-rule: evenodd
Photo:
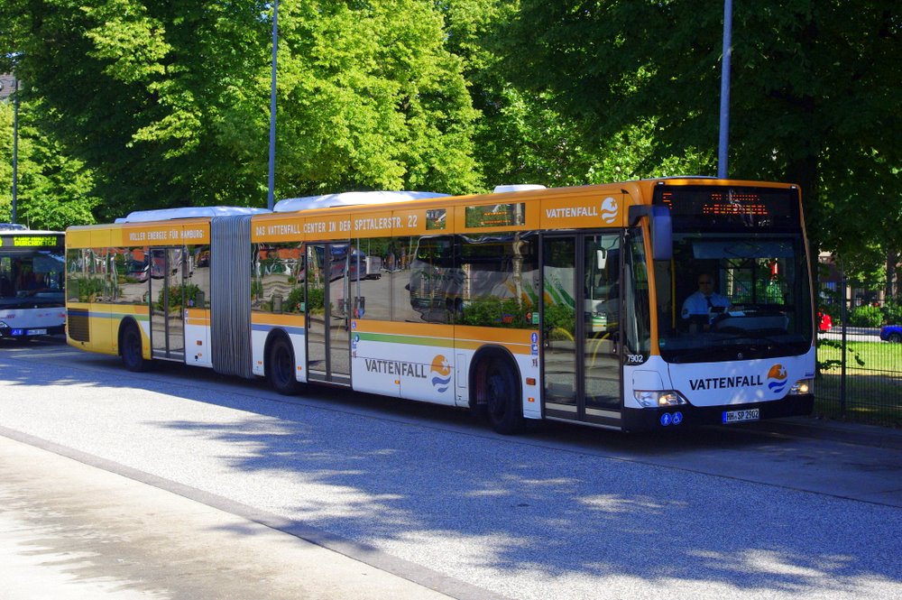
<svg viewBox="0 0 902 600">
<path fill-rule="evenodd" d="M 476 372 L 477 402 L 484 402 L 492 429 L 502 435 L 520 433 L 523 409 L 513 368 L 507 360 L 492 356 Z"/>
</svg>

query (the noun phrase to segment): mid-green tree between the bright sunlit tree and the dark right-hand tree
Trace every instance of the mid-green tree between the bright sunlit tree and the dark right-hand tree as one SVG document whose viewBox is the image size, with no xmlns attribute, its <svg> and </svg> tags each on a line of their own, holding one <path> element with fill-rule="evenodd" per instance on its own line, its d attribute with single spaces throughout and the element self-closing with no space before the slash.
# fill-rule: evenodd
<svg viewBox="0 0 902 600">
<path fill-rule="evenodd" d="M 577 115 L 560 110 L 549 89 L 516 85 L 502 62 L 519 0 L 452 0 L 446 3 L 447 45 L 465 63 L 477 123 L 476 150 L 485 180 L 499 183 L 584 185 L 649 176 L 650 124 L 630 124 L 616 134 L 591 138 Z M 684 152 L 666 162 L 672 173 L 699 169 L 709 160 Z M 656 167 L 660 172 L 660 166 Z"/>
</svg>

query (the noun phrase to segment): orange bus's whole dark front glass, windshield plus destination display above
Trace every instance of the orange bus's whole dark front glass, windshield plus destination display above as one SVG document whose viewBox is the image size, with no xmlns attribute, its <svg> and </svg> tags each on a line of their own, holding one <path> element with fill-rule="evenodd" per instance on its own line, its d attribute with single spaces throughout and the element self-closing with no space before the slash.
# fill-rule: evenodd
<svg viewBox="0 0 902 600">
<path fill-rule="evenodd" d="M 660 186 L 673 258 L 655 263 L 671 363 L 802 355 L 813 327 L 797 189 Z"/>
</svg>

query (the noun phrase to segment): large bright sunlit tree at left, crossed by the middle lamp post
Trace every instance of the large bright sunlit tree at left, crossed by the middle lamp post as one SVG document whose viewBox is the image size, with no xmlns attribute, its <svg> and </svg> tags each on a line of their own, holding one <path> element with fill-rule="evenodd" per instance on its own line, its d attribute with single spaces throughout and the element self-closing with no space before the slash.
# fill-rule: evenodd
<svg viewBox="0 0 902 600">
<path fill-rule="evenodd" d="M 262 206 L 271 8 L 9 0 L 0 43 L 41 128 L 96 173 L 100 217 Z M 283 0 L 280 29 L 278 196 L 478 185 L 476 114 L 435 7 Z"/>
</svg>

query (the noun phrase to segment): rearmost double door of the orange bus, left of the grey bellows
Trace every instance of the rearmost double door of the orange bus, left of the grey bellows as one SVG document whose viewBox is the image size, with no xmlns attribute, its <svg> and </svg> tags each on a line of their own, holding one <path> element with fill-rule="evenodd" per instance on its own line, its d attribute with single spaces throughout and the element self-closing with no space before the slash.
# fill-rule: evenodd
<svg viewBox="0 0 902 600">
<path fill-rule="evenodd" d="M 183 248 L 151 248 L 151 349 L 153 358 L 185 360 Z"/>
</svg>

